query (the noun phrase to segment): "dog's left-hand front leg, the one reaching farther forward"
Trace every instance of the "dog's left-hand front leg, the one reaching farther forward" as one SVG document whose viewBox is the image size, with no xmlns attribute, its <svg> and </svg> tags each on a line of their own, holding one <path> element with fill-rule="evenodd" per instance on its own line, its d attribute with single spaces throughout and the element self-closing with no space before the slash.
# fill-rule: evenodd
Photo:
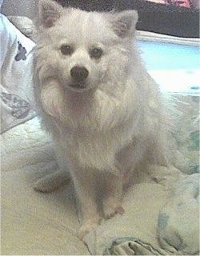
<svg viewBox="0 0 200 256">
<path fill-rule="evenodd" d="M 100 222 L 96 202 L 96 178 L 93 170 L 76 167 L 71 173 L 80 204 L 82 226 L 78 237 L 83 238 Z"/>
</svg>

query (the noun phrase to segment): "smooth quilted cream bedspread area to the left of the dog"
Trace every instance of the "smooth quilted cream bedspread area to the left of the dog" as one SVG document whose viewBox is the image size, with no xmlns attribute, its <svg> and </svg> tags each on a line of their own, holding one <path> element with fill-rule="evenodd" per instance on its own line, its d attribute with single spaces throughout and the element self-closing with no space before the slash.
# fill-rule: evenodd
<svg viewBox="0 0 200 256">
<path fill-rule="evenodd" d="M 57 166 L 38 118 L 1 135 L 2 255 L 89 254 L 78 239 L 74 190 L 40 194 L 34 182 Z"/>
</svg>

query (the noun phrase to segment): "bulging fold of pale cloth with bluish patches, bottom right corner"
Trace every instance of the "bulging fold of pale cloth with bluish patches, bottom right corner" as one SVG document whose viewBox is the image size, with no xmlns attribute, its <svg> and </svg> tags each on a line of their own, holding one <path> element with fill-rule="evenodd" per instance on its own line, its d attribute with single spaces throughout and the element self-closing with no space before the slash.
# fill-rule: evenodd
<svg viewBox="0 0 200 256">
<path fill-rule="evenodd" d="M 158 240 L 173 254 L 199 254 L 199 174 L 178 178 L 158 217 Z"/>
</svg>

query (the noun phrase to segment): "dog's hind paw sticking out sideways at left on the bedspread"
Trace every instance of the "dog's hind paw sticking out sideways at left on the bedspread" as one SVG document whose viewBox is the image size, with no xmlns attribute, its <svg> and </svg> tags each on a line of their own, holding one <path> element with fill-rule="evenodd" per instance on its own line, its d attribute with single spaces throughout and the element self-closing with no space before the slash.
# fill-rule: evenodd
<svg viewBox="0 0 200 256">
<path fill-rule="evenodd" d="M 70 175 L 67 172 L 49 174 L 34 183 L 34 190 L 43 193 L 51 193 L 58 190 L 61 186 L 66 185 L 69 180 Z"/>
</svg>

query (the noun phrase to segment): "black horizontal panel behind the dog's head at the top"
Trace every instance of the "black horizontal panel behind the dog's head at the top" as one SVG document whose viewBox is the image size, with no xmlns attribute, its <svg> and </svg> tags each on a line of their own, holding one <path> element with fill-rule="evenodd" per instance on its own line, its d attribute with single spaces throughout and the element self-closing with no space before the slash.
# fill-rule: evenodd
<svg viewBox="0 0 200 256">
<path fill-rule="evenodd" d="M 199 38 L 199 10 L 166 6 L 144 0 L 57 0 L 62 6 L 82 10 L 138 10 L 138 30 L 169 34 L 185 38 Z"/>
</svg>

